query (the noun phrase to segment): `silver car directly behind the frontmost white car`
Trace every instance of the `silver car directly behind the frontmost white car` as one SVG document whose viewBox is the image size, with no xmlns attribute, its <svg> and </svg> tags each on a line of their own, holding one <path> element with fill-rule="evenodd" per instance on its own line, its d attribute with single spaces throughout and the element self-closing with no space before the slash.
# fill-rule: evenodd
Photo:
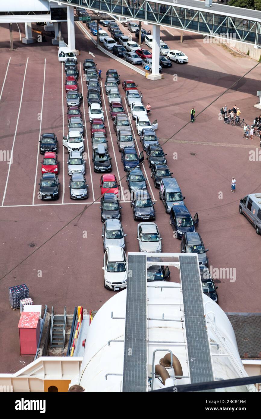
<svg viewBox="0 0 261 419">
<path fill-rule="evenodd" d="M 102 226 L 103 251 L 108 247 L 116 246 L 125 249 L 125 238 L 121 222 L 119 220 L 106 220 Z"/>
</svg>

